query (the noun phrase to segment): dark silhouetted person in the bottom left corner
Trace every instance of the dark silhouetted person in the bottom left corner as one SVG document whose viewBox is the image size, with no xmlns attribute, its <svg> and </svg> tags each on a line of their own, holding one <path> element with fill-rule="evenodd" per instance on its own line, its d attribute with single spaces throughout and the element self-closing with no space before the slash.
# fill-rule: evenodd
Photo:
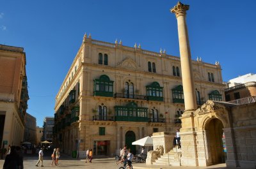
<svg viewBox="0 0 256 169">
<path fill-rule="evenodd" d="M 20 169 L 20 160 L 15 146 L 10 147 L 10 153 L 4 159 L 3 169 Z"/>
</svg>

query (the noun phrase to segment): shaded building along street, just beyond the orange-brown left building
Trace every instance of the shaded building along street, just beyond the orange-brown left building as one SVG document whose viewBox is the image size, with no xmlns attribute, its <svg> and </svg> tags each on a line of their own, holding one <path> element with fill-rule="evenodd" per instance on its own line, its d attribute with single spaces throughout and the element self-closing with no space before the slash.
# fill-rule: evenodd
<svg viewBox="0 0 256 169">
<path fill-rule="evenodd" d="M 31 142 L 35 145 L 38 143 L 36 136 L 36 118 L 28 113 L 25 115 L 25 131 L 23 141 Z"/>
</svg>

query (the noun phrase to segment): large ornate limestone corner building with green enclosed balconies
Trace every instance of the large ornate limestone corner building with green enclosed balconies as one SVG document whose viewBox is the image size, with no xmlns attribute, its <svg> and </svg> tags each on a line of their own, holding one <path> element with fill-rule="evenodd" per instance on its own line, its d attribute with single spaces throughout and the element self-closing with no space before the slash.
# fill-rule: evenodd
<svg viewBox="0 0 256 169">
<path fill-rule="evenodd" d="M 175 132 L 184 112 L 180 58 L 84 35 L 56 96 L 54 143 L 67 154 L 111 155 L 154 132 Z M 198 106 L 224 100 L 221 66 L 193 61 Z"/>
</svg>

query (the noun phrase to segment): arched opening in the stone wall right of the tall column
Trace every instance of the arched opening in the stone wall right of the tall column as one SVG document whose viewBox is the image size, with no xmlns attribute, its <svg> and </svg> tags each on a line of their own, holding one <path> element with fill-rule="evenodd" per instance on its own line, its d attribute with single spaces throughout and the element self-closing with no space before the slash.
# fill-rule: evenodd
<svg viewBox="0 0 256 169">
<path fill-rule="evenodd" d="M 223 150 L 223 124 L 219 119 L 211 119 L 205 125 L 206 145 L 208 152 L 208 164 L 216 165 L 225 163 Z"/>
</svg>

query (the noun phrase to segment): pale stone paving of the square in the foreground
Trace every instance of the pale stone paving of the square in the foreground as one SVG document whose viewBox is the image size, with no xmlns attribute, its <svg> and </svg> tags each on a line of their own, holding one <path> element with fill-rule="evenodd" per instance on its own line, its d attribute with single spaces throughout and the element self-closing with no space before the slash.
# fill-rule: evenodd
<svg viewBox="0 0 256 169">
<path fill-rule="evenodd" d="M 92 160 L 92 163 L 85 163 L 84 159 L 74 159 L 70 156 L 62 155 L 59 161 L 58 166 L 51 166 L 51 155 L 47 154 L 47 156 L 44 157 L 44 167 L 41 166 L 35 166 L 36 162 L 38 160 L 38 157 L 36 155 L 26 155 L 24 156 L 24 168 L 30 169 L 30 168 L 70 168 L 70 169 L 79 169 L 79 168 L 92 168 L 92 169 L 98 169 L 98 168 L 120 168 L 120 165 L 116 165 L 115 158 L 95 158 Z M 0 168 L 3 168 L 4 159 L 0 159 Z M 210 169 L 210 168 L 226 168 L 225 164 L 220 165 L 214 165 L 214 166 L 207 166 L 207 167 L 191 167 L 191 166 L 150 166 L 146 165 L 145 163 L 132 163 L 132 166 L 134 169 L 146 169 L 146 168 L 186 168 L 186 169 Z"/>
</svg>

